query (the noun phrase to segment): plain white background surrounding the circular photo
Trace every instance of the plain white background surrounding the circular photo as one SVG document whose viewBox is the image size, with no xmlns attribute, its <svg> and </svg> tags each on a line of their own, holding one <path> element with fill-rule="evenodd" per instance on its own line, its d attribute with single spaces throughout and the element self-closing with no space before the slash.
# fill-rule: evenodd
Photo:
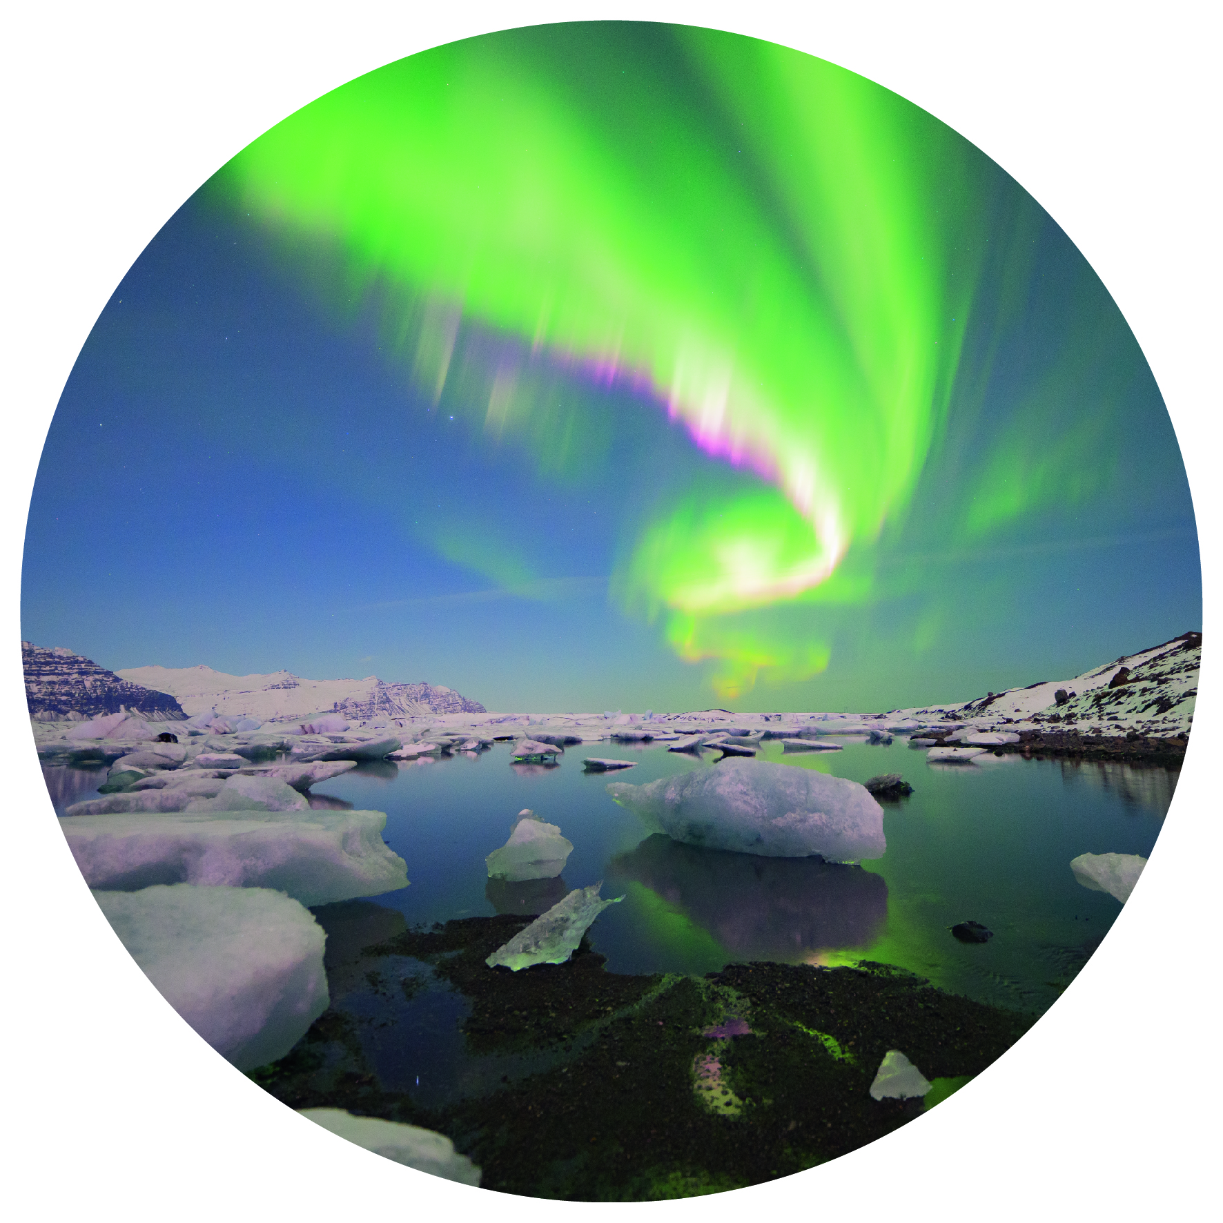
<svg viewBox="0 0 1223 1223">
<path fill-rule="evenodd" d="M 799 1177 L 658 1207 L 451 1186 L 325 1134 L 212 1053 L 88 896 L 29 751 L 17 651 L 21 548 L 43 439 L 89 328 L 158 227 L 243 144 L 361 72 L 473 33 L 591 17 L 718 26 L 821 55 L 925 106 L 1010 171 L 1079 245 L 1151 362 L 1189 470 L 1205 570 L 1206 695 L 1180 789 L 1137 890 L 1066 996 L 987 1074 L 900 1132 Z M 121 0 L 11 16 L 0 333 L 0 715 L 11 746 L 0 896 L 13 1217 L 1205 1213 L 1218 1158 L 1207 1129 L 1218 1108 L 1219 993 L 1208 901 L 1223 818 L 1207 784 L 1219 742 L 1211 21 L 1205 4 L 1115 0 L 801 10 L 768 0 Z M 98 547 L 121 554 L 139 581 L 142 553 L 171 544 L 111 531 L 106 473 L 97 476 Z M 1169 636 L 1186 627 L 1169 625 Z"/>
</svg>

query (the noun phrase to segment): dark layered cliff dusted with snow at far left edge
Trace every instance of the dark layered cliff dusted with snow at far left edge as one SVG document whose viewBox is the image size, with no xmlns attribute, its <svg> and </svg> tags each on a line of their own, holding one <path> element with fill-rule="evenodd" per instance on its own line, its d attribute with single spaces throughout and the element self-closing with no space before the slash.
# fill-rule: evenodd
<svg viewBox="0 0 1223 1223">
<path fill-rule="evenodd" d="M 40 720 L 72 714 L 93 718 L 99 713 L 119 713 L 121 706 L 161 722 L 186 717 L 172 696 L 120 679 L 62 646 L 48 649 L 23 641 L 21 660 L 26 671 L 26 703 L 31 717 Z"/>
</svg>

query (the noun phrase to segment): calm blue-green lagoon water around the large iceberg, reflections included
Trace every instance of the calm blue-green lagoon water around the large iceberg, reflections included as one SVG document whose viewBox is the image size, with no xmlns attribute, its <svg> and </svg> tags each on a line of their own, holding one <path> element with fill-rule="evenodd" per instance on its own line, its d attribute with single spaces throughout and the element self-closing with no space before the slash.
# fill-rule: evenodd
<svg viewBox="0 0 1223 1223">
<path fill-rule="evenodd" d="M 555 768 L 511 766 L 508 745 L 427 764 L 384 762 L 323 783 L 312 804 L 385 811 L 386 843 L 407 862 L 410 887 L 361 905 L 368 942 L 378 937 L 374 927 L 390 932 L 405 920 L 538 912 L 567 889 L 602 879 L 604 896 L 626 898 L 591 928 L 613 971 L 704 974 L 730 960 L 871 959 L 982 1002 L 1040 1011 L 1120 911 L 1112 896 L 1075 882 L 1070 860 L 1084 852 L 1148 856 L 1177 780 L 1161 768 L 1015 756 L 932 766 L 899 737 L 844 744 L 839 752 L 788 753 L 784 761 L 856 781 L 901 773 L 915 791 L 884 804 L 887 852 L 861 867 L 700 850 L 646 835 L 612 801 L 609 780 L 641 784 L 715 767 L 712 757 L 698 761 L 664 746 L 570 747 Z M 588 774 L 583 756 L 637 764 Z M 762 756 L 783 759 L 773 744 Z M 97 769 L 45 772 L 59 810 L 93 795 L 105 777 Z M 563 879 L 488 881 L 484 855 L 505 843 L 522 807 L 559 824 L 574 843 Z M 994 938 L 956 942 L 949 927 L 965 920 L 985 923 Z"/>
</svg>

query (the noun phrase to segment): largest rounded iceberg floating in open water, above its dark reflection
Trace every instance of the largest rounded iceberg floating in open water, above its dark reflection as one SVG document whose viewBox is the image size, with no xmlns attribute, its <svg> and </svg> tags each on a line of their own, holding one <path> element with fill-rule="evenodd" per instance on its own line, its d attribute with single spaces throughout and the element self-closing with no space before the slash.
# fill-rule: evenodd
<svg viewBox="0 0 1223 1223">
<path fill-rule="evenodd" d="M 612 781 L 608 794 L 673 840 L 766 857 L 829 862 L 882 857 L 883 808 L 846 778 L 772 761 L 723 759 L 646 785 Z"/>
</svg>

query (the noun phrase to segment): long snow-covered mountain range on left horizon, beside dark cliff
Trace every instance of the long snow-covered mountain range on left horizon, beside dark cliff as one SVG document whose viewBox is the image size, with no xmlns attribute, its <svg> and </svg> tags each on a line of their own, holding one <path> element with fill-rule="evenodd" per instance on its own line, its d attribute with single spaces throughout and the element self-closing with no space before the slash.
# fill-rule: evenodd
<svg viewBox="0 0 1223 1223">
<path fill-rule="evenodd" d="M 342 713 L 360 720 L 413 713 L 484 713 L 484 707 L 432 684 L 385 684 L 377 675 L 361 680 L 308 680 L 290 671 L 227 675 L 210 667 L 131 667 L 116 673 L 176 697 L 188 715 L 215 708 L 219 714 L 273 722 Z"/>
</svg>

